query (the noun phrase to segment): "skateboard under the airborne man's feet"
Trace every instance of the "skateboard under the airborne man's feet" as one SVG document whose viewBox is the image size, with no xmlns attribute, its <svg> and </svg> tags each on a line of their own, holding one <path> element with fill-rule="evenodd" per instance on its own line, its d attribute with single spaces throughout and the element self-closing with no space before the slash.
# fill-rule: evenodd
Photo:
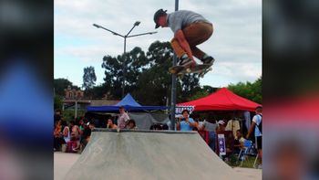
<svg viewBox="0 0 319 180">
<path fill-rule="evenodd" d="M 212 64 L 197 64 L 193 67 L 174 66 L 170 68 L 170 73 L 177 74 L 180 79 L 187 73 L 199 74 L 199 77 L 203 78 L 205 74 L 212 70 L 211 66 Z"/>
</svg>

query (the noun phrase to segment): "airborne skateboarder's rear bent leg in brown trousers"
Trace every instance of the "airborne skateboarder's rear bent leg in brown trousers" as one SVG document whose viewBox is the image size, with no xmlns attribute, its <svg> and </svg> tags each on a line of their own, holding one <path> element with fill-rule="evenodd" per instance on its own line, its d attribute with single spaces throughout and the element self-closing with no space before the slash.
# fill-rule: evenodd
<svg viewBox="0 0 319 180">
<path fill-rule="evenodd" d="M 213 32 L 213 27 L 208 23 L 194 23 L 183 29 L 185 38 L 190 44 L 191 52 L 194 57 L 203 59 L 206 55 L 197 45 L 205 42 L 211 37 Z"/>
</svg>

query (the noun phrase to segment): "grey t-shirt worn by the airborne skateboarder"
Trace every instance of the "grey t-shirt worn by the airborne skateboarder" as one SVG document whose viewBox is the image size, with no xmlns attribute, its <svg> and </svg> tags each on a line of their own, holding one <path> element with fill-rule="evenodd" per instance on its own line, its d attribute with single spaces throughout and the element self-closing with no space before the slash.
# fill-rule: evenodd
<svg viewBox="0 0 319 180">
<path fill-rule="evenodd" d="M 170 13 L 167 16 L 167 20 L 168 25 L 170 26 L 170 29 L 174 32 L 174 34 L 179 29 L 183 29 L 184 27 L 189 26 L 191 23 L 195 23 L 198 21 L 211 23 L 200 14 L 188 10 L 180 10 Z"/>
</svg>

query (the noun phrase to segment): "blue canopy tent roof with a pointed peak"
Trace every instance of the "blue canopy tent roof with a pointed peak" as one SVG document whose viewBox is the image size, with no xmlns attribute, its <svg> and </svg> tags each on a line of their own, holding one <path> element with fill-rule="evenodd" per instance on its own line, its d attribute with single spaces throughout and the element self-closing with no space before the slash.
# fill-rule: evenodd
<svg viewBox="0 0 319 180">
<path fill-rule="evenodd" d="M 127 111 L 159 111 L 169 109 L 166 106 L 142 106 L 128 93 L 121 101 L 113 106 L 87 106 L 87 111 L 118 111 L 120 106 L 124 106 Z"/>
</svg>

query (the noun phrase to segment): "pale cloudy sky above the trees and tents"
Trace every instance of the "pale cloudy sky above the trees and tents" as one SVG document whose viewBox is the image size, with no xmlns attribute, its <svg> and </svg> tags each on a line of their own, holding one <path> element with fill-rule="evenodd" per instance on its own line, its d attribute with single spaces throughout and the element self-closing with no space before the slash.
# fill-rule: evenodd
<svg viewBox="0 0 319 180">
<path fill-rule="evenodd" d="M 148 51 L 156 40 L 170 41 L 170 27 L 155 29 L 154 13 L 175 10 L 173 0 L 55 0 L 54 78 L 64 78 L 81 87 L 83 69 L 95 68 L 96 84 L 101 84 L 102 58 L 124 51 L 124 38 L 92 26 L 98 24 L 126 35 L 157 31 L 154 35 L 129 37 L 127 52 L 140 47 Z M 191 10 L 211 21 L 214 32 L 199 45 L 214 57 L 212 71 L 200 79 L 201 85 L 225 87 L 240 81 L 253 82 L 262 76 L 262 0 L 180 0 L 180 10 Z"/>
</svg>

